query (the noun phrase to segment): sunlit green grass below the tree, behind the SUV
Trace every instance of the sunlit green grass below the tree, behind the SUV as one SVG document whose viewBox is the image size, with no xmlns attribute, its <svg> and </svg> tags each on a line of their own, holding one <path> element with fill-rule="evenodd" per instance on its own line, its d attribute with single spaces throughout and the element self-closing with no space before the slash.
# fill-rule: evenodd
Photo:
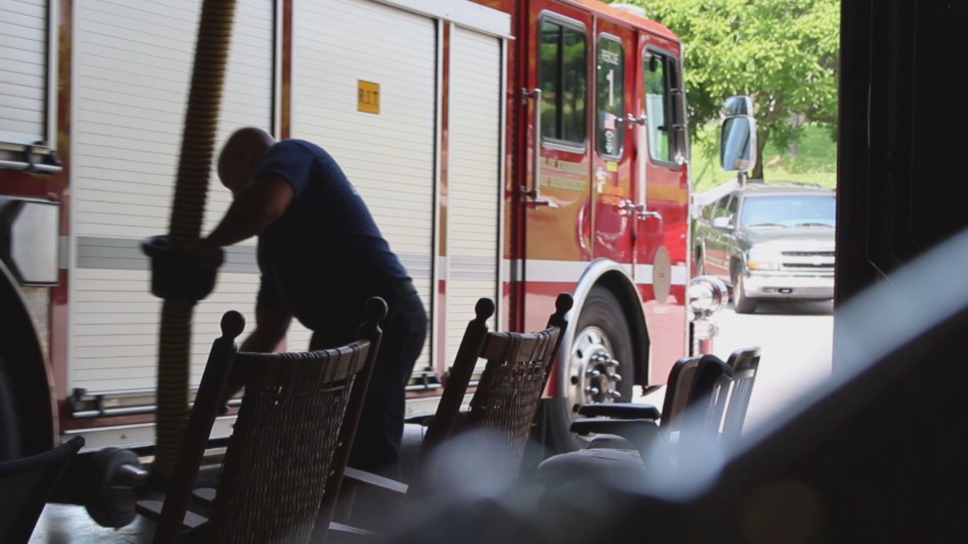
<svg viewBox="0 0 968 544">
<path fill-rule="evenodd" d="M 700 128 L 692 143 L 692 179 L 697 192 L 706 191 L 724 181 L 736 178 L 736 172 L 719 168 L 718 127 Z M 837 184 L 837 144 L 819 127 L 803 127 L 796 157 L 780 151 L 767 142 L 763 151 L 764 177 L 768 180 L 790 180 L 817 183 L 833 188 Z"/>
</svg>

